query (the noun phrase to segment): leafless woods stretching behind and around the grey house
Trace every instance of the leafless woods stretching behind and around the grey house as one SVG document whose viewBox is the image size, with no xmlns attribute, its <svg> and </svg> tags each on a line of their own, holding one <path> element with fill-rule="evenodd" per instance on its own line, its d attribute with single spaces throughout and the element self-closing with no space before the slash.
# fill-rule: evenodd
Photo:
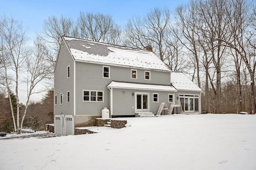
<svg viewBox="0 0 256 170">
<path fill-rule="evenodd" d="M 31 94 L 40 93 L 38 84 L 47 82 L 46 89 L 53 87 L 63 35 L 139 49 L 152 45 L 168 68 L 186 73 L 203 90 L 203 112 L 256 111 L 255 0 L 192 0 L 174 11 L 166 7 L 144 16 L 134 14 L 126 25 L 100 13 L 80 12 L 77 18 L 49 16 L 33 47 L 26 31 L 20 21 L 0 17 L 1 92 L 11 107 L 15 89 L 20 107 L 18 89 L 25 84 L 28 102 L 22 117 L 31 105 Z M 19 110 L 12 111 L 12 117 L 20 117 Z M 15 121 L 19 129 L 25 120 Z"/>
</svg>

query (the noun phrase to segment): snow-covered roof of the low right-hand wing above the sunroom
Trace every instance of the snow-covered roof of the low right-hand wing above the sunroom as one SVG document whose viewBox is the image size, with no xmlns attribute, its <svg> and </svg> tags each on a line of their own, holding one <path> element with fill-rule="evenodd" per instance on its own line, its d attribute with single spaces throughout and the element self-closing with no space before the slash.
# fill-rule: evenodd
<svg viewBox="0 0 256 170">
<path fill-rule="evenodd" d="M 177 90 L 202 91 L 182 72 L 171 72 L 171 83 Z"/>
</svg>

